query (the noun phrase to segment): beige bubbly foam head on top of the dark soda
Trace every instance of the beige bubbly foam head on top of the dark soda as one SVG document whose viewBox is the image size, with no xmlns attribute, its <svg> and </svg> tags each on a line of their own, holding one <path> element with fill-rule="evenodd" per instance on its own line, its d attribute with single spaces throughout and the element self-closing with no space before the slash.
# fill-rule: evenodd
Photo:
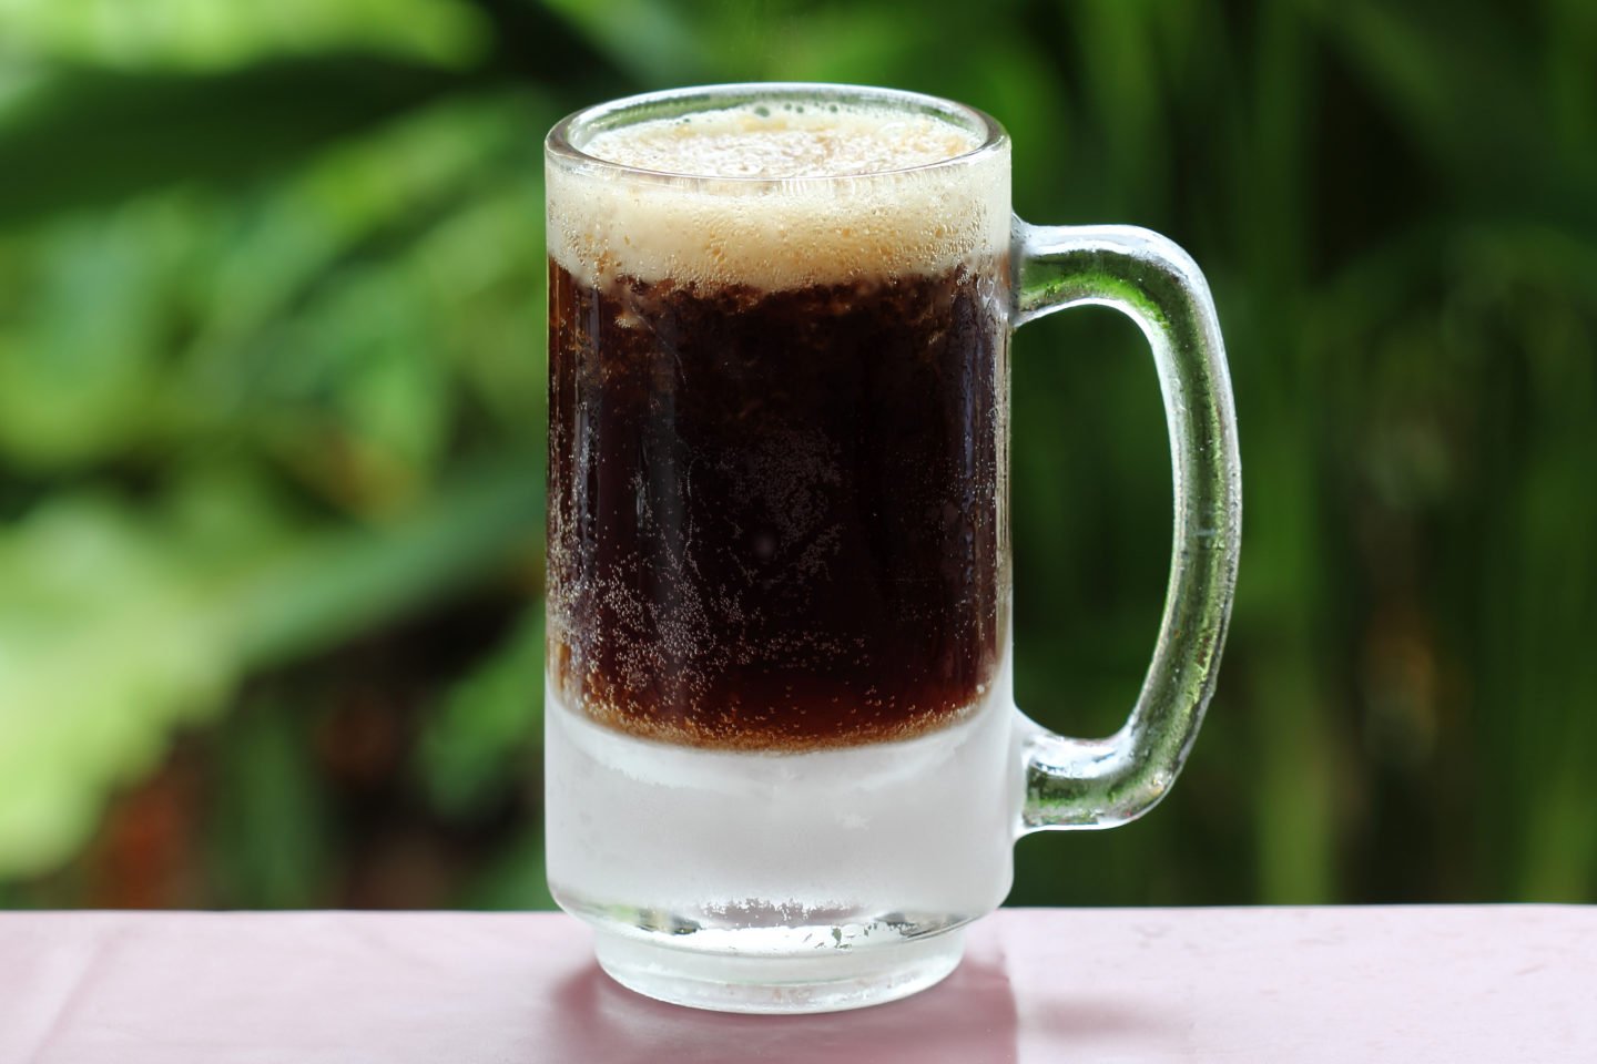
<svg viewBox="0 0 1597 1064">
<path fill-rule="evenodd" d="M 1008 144 L 929 166 L 981 147 L 941 118 L 739 107 L 581 147 L 658 171 L 551 160 L 549 254 L 589 284 L 792 289 L 937 273 L 1009 244 Z"/>
</svg>

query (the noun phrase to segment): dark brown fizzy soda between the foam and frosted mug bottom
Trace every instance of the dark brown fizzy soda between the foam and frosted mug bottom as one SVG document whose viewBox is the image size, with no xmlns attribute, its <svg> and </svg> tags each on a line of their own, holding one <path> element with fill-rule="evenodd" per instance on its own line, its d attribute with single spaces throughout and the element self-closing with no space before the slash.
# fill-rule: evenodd
<svg viewBox="0 0 1597 1064">
<path fill-rule="evenodd" d="M 1005 276 L 594 287 L 551 260 L 559 697 L 773 751 L 979 703 L 1006 617 Z"/>
</svg>

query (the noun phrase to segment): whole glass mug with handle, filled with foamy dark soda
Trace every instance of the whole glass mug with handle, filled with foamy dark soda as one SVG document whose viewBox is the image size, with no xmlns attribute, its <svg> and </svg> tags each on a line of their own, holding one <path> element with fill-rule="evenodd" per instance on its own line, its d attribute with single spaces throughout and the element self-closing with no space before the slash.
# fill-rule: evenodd
<svg viewBox="0 0 1597 1064">
<path fill-rule="evenodd" d="M 955 968 L 1012 844 L 1148 810 L 1214 691 L 1239 466 L 1207 286 L 1129 227 L 1012 219 L 987 115 L 890 89 L 637 96 L 546 142 L 548 879 L 599 964 L 751 1013 Z M 1121 731 L 1011 700 L 1009 333 L 1153 348 L 1169 592 Z"/>
</svg>

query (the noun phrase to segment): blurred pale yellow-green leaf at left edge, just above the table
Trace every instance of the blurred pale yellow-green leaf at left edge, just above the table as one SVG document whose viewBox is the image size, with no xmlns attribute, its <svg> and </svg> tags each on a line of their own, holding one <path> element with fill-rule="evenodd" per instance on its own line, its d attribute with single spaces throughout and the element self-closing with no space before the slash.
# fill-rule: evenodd
<svg viewBox="0 0 1597 1064">
<path fill-rule="evenodd" d="M 0 877 L 88 836 L 105 790 L 238 675 L 235 633 L 153 530 L 64 498 L 0 539 Z"/>
</svg>

